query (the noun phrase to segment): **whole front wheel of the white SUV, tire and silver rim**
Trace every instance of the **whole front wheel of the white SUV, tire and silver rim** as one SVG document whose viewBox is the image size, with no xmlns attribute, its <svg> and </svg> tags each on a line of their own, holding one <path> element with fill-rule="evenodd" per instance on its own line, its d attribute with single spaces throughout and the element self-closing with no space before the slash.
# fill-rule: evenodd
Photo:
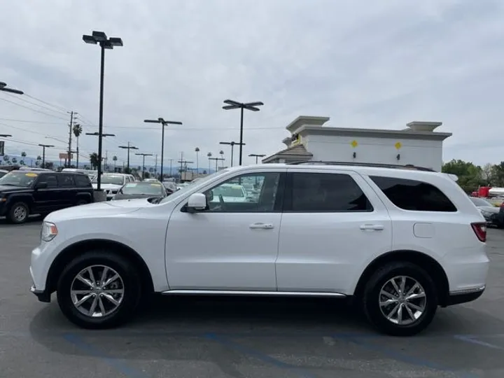
<svg viewBox="0 0 504 378">
<path fill-rule="evenodd" d="M 107 286 L 99 282 L 104 267 L 108 269 L 105 281 L 116 274 L 119 276 Z M 92 281 L 88 269 L 92 269 L 94 286 L 76 278 L 80 274 L 87 282 Z M 81 293 L 72 289 L 81 290 Z M 86 252 L 72 260 L 57 283 L 57 301 L 63 314 L 79 327 L 90 329 L 113 328 L 130 320 L 141 293 L 141 279 L 134 265 L 116 253 L 103 250 Z M 77 307 L 74 301 L 82 301 L 86 295 L 90 297 Z M 92 306 L 94 316 L 90 316 Z"/>
</svg>

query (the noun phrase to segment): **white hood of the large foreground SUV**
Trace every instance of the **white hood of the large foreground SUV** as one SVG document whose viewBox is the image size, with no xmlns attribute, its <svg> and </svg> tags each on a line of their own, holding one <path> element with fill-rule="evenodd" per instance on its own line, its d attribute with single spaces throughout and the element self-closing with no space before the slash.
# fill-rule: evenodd
<svg viewBox="0 0 504 378">
<path fill-rule="evenodd" d="M 152 206 L 147 200 L 104 201 L 69 207 L 50 213 L 45 221 L 58 222 L 75 218 L 106 218 L 119 214 L 132 213 L 142 207 Z"/>
</svg>

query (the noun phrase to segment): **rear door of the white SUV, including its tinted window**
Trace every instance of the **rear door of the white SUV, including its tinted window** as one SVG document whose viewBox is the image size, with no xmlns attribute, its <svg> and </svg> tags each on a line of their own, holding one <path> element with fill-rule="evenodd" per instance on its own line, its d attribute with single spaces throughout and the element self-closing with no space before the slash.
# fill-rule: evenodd
<svg viewBox="0 0 504 378">
<path fill-rule="evenodd" d="M 351 294 L 372 256 L 390 251 L 386 207 L 356 172 L 294 167 L 288 172 L 278 290 Z"/>
</svg>

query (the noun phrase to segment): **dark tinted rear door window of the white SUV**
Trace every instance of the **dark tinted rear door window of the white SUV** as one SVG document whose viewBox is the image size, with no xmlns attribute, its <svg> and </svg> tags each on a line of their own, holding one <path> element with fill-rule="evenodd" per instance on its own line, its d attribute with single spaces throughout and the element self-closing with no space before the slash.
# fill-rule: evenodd
<svg viewBox="0 0 504 378">
<path fill-rule="evenodd" d="M 293 173 L 290 211 L 372 211 L 348 174 Z"/>
</svg>

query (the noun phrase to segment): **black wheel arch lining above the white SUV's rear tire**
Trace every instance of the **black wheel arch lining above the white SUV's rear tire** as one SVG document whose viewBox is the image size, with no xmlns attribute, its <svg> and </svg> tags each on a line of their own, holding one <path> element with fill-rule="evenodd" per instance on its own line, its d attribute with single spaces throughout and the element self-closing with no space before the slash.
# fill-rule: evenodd
<svg viewBox="0 0 504 378">
<path fill-rule="evenodd" d="M 426 272 L 428 272 L 432 277 L 436 288 L 438 288 L 437 294 L 439 295 L 440 306 L 444 307 L 447 305 L 449 297 L 449 283 L 446 272 L 444 272 L 440 263 L 430 255 L 412 250 L 390 251 L 388 253 L 384 253 L 383 255 L 379 255 L 377 258 L 372 260 L 372 262 L 367 265 L 364 272 L 360 275 L 354 291 L 354 296 L 362 297 L 365 283 L 370 279 L 371 275 L 378 267 L 381 267 L 388 262 L 395 261 L 412 262 L 413 264 L 426 270 Z"/>
</svg>

